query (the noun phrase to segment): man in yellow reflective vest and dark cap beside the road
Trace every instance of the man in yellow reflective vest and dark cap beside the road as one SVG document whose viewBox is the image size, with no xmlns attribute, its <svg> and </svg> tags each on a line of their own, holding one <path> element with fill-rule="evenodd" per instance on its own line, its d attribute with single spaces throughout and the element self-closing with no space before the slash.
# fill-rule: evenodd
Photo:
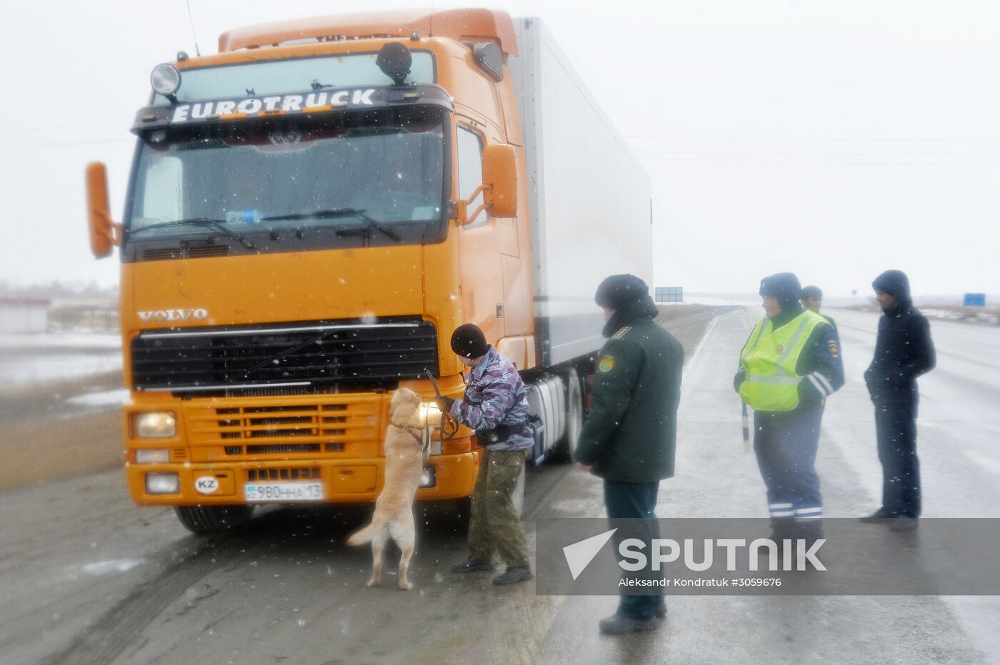
<svg viewBox="0 0 1000 665">
<path fill-rule="evenodd" d="M 754 409 L 753 447 L 779 542 L 822 537 L 819 428 L 826 398 L 844 384 L 837 331 L 802 307 L 801 291 L 791 273 L 761 280 L 766 316 L 740 351 L 733 380 Z"/>
</svg>

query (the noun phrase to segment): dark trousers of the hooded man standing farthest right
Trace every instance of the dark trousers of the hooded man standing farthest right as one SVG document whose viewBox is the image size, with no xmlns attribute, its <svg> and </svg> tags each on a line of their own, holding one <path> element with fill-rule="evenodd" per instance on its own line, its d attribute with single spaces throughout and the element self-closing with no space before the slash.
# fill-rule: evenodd
<svg viewBox="0 0 1000 665">
<path fill-rule="evenodd" d="M 882 462 L 882 507 L 887 516 L 920 516 L 916 419 L 915 403 L 875 405 L 878 458 Z"/>
</svg>

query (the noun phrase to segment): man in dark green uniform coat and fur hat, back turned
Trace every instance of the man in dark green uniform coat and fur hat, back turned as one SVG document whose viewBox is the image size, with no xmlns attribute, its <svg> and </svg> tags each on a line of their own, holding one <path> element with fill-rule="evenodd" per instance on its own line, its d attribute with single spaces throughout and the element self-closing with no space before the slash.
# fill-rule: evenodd
<svg viewBox="0 0 1000 665">
<path fill-rule="evenodd" d="M 677 405 L 684 348 L 654 322 L 659 310 L 634 275 L 612 275 L 594 297 L 608 337 L 597 361 L 590 412 L 574 458 L 604 478 L 608 517 L 649 520 L 659 537 L 656 495 L 674 474 Z M 652 630 L 666 616 L 663 596 L 622 595 L 618 611 L 601 619 L 605 633 Z"/>
</svg>

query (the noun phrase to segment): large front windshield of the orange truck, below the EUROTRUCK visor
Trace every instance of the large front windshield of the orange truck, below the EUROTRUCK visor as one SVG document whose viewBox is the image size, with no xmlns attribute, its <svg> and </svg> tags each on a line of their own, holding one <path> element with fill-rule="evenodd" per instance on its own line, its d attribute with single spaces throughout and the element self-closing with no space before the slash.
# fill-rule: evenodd
<svg viewBox="0 0 1000 665">
<path fill-rule="evenodd" d="M 443 121 L 412 107 L 156 130 L 140 142 L 128 238 L 330 229 L 427 240 L 441 227 Z"/>
</svg>

